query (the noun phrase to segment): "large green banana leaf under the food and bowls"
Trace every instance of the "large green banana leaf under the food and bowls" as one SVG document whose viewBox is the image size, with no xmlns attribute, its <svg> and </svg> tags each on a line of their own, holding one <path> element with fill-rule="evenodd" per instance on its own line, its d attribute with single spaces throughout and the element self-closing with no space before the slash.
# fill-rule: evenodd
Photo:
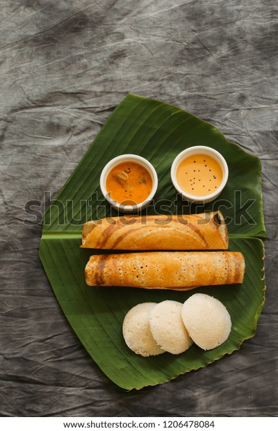
<svg viewBox="0 0 278 431">
<path fill-rule="evenodd" d="M 229 180 L 220 197 L 198 208 L 177 197 L 170 179 L 175 156 L 192 145 L 217 149 L 229 165 Z M 229 250 L 243 252 L 245 257 L 243 284 L 206 286 L 189 292 L 89 288 L 85 284 L 85 264 L 91 254 L 100 251 L 79 248 L 83 223 L 116 215 L 101 195 L 99 176 L 111 158 L 128 153 L 144 156 L 158 173 L 154 204 L 145 212 L 222 211 L 228 225 Z M 140 389 L 206 366 L 254 336 L 265 294 L 263 243 L 256 237 L 265 237 L 259 159 L 194 115 L 161 101 L 128 95 L 44 214 L 40 259 L 65 316 L 92 359 L 120 387 Z M 165 299 L 184 302 L 197 291 L 213 295 L 229 310 L 232 330 L 225 343 L 207 352 L 193 345 L 181 355 L 165 353 L 149 358 L 126 347 L 122 321 L 133 305 Z"/>
</svg>

